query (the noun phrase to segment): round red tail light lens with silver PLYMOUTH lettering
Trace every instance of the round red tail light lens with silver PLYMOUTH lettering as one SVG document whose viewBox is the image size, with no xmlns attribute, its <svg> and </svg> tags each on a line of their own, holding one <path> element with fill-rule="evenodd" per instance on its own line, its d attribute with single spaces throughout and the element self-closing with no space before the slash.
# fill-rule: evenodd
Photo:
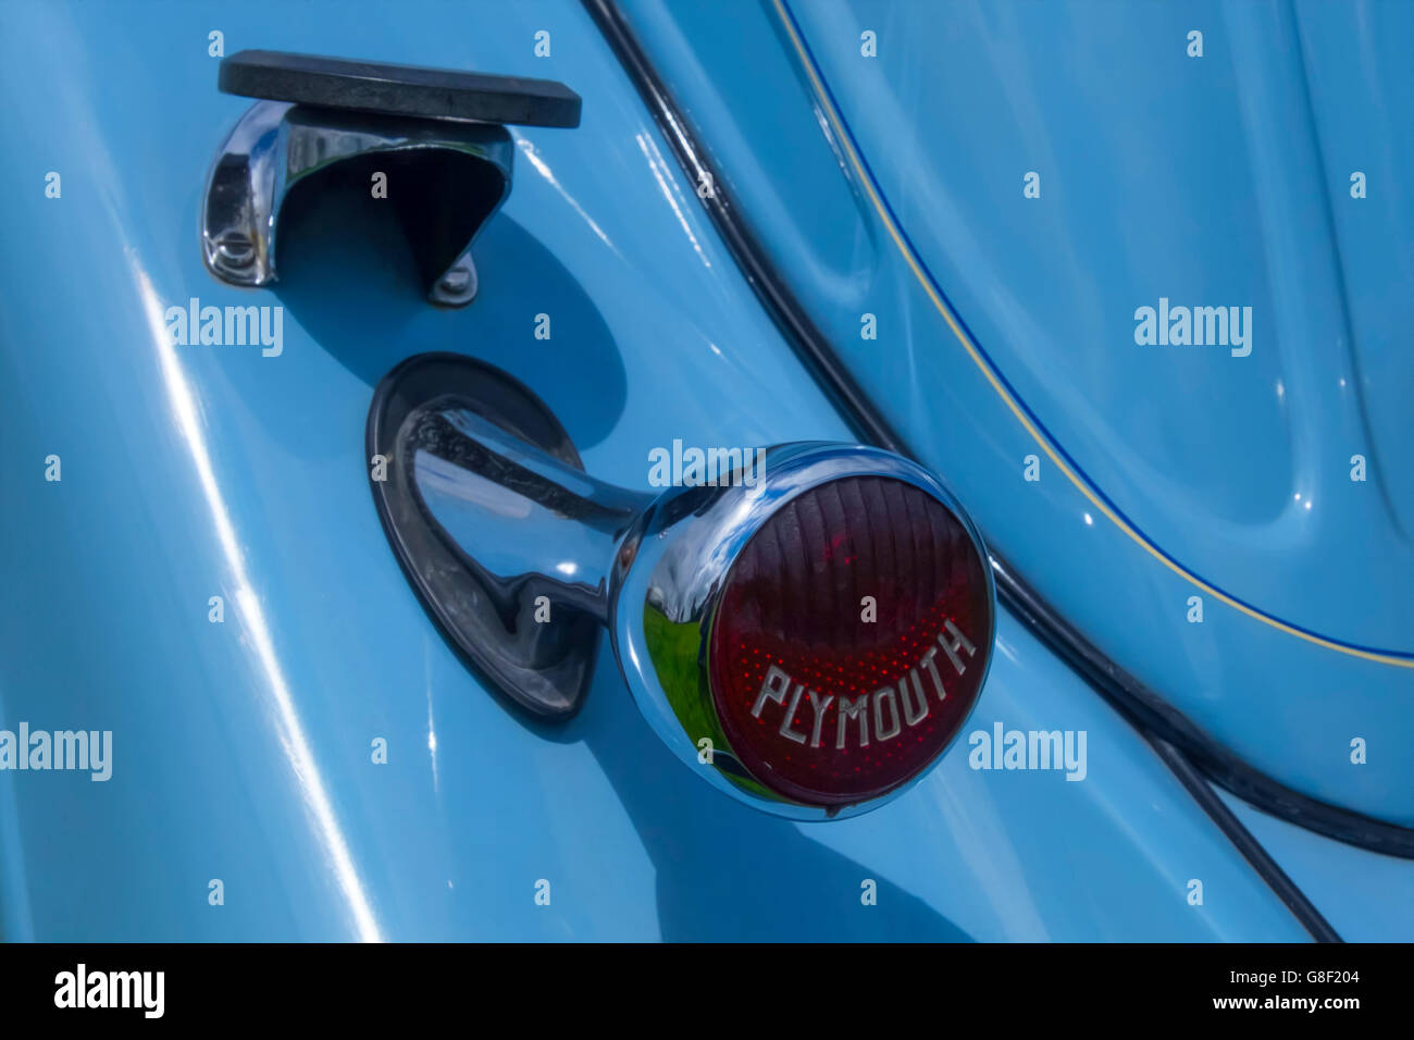
<svg viewBox="0 0 1414 1040">
<path fill-rule="evenodd" d="M 916 775 L 987 671 L 986 566 L 912 484 L 843 477 L 790 499 L 732 563 L 713 621 L 711 693 L 732 754 L 809 805 Z"/>
</svg>

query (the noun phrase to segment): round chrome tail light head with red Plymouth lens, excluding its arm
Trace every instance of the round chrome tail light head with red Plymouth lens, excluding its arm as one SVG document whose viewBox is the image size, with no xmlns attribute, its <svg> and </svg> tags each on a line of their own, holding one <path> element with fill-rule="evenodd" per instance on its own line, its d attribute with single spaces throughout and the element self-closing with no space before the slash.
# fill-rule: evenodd
<svg viewBox="0 0 1414 1040">
<path fill-rule="evenodd" d="M 755 488 L 670 492 L 643 514 L 612 632 L 684 761 L 758 808 L 830 819 L 898 795 L 957 736 L 994 597 L 976 529 L 926 470 L 785 444 Z"/>
</svg>

